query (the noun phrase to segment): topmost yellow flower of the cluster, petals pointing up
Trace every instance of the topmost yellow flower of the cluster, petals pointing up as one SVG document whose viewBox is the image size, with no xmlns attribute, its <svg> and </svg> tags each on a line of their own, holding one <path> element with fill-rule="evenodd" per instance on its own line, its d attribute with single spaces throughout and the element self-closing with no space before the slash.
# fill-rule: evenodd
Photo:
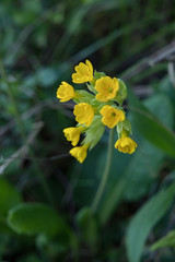
<svg viewBox="0 0 175 262">
<path fill-rule="evenodd" d="M 72 74 L 73 83 L 82 84 L 93 80 L 93 67 L 89 60 L 85 60 L 85 63 L 80 62 L 74 70 L 75 73 Z"/>
</svg>

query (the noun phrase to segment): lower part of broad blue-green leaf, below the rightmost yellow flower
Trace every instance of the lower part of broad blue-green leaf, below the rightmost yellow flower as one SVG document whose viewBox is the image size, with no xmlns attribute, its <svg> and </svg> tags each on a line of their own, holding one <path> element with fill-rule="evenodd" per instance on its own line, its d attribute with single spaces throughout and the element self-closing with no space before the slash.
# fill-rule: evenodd
<svg viewBox="0 0 175 262">
<path fill-rule="evenodd" d="M 147 141 L 138 143 L 137 153 L 125 171 L 125 200 L 136 201 L 148 192 L 150 184 L 158 178 L 164 158 L 165 154 Z"/>
</svg>

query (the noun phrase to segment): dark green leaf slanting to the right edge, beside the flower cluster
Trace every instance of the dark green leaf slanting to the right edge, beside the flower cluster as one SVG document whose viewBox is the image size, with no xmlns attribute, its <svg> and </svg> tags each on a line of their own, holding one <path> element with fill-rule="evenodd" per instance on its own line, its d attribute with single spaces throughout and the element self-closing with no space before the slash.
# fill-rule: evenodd
<svg viewBox="0 0 175 262">
<path fill-rule="evenodd" d="M 139 132 L 153 145 L 175 157 L 175 134 L 155 117 L 159 112 L 151 114 L 130 90 L 129 105 Z M 168 112 L 166 117 L 168 118 Z"/>
</svg>

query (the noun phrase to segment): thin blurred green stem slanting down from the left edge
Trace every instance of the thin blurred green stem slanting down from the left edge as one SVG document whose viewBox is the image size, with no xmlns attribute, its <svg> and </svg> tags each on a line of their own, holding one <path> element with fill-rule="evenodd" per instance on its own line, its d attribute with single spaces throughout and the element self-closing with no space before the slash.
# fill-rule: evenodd
<svg viewBox="0 0 175 262">
<path fill-rule="evenodd" d="M 2 61 L 0 59 L 0 73 L 1 73 L 1 76 L 3 79 L 3 81 L 5 82 L 7 84 L 7 91 L 8 91 L 8 95 L 9 95 L 9 98 L 10 98 L 10 102 L 12 104 L 12 107 L 13 107 L 13 111 L 14 111 L 14 117 L 15 117 L 15 121 L 16 121 L 16 124 L 20 129 L 20 133 L 22 135 L 22 139 L 23 139 L 23 142 L 25 143 L 26 141 L 26 132 L 25 132 L 25 127 L 24 127 L 24 123 L 23 123 L 23 120 L 20 116 L 20 112 L 19 112 L 19 109 L 18 109 L 18 105 L 16 105 L 16 102 L 15 102 L 15 97 L 13 95 L 13 88 L 12 88 L 12 85 L 11 83 L 9 82 L 8 80 L 8 76 L 5 74 L 5 70 L 3 68 L 3 64 L 2 64 Z M 32 157 L 34 157 L 34 154 L 33 154 L 33 150 L 31 148 L 31 146 L 28 145 L 28 151 L 30 151 L 30 154 Z M 34 168 L 35 168 L 35 171 L 36 171 L 36 175 L 38 176 L 38 180 L 40 182 L 40 187 L 48 200 L 48 202 L 54 205 L 54 199 L 52 199 L 52 195 L 51 195 L 51 192 L 48 188 L 48 184 L 36 163 L 36 160 L 34 160 Z"/>
</svg>

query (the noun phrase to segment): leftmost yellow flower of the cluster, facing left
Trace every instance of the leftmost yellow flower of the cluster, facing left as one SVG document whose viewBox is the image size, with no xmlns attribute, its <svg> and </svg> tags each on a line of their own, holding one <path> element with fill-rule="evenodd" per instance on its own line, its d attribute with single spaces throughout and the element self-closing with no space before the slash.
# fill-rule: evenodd
<svg viewBox="0 0 175 262">
<path fill-rule="evenodd" d="M 75 97 L 75 92 L 73 86 L 68 84 L 67 82 L 61 82 L 61 85 L 57 90 L 57 98 L 60 99 L 60 102 L 68 102 Z"/>
</svg>

